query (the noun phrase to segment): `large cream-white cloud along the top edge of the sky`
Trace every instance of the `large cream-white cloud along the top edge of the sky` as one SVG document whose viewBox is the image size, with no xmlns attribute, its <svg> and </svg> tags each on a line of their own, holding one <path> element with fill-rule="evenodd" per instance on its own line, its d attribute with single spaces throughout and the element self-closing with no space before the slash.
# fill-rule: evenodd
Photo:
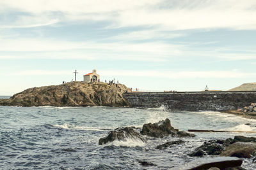
<svg viewBox="0 0 256 170">
<path fill-rule="evenodd" d="M 2 0 L 0 11 L 2 13 L 8 13 L 10 10 L 24 11 L 31 13 L 35 18 L 38 18 L 38 15 L 45 15 L 48 21 L 56 19 L 49 13 L 59 12 L 63 15 L 57 18 L 60 22 L 107 20 L 111 22 L 109 27 L 154 25 L 169 31 L 209 28 L 256 29 L 256 12 L 252 8 L 255 4 L 253 0 Z"/>
</svg>

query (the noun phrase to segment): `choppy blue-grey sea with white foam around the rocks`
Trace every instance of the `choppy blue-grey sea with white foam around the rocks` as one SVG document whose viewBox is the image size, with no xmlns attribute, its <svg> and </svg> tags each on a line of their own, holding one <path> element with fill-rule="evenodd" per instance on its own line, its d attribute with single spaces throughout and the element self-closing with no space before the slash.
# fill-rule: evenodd
<svg viewBox="0 0 256 170">
<path fill-rule="evenodd" d="M 165 150 L 158 150 L 156 146 L 179 138 L 147 138 L 147 142 L 127 138 L 99 145 L 99 139 L 113 129 L 141 128 L 143 124 L 165 118 L 169 118 L 172 126 L 180 131 L 256 131 L 256 120 L 218 111 L 172 111 L 164 106 L 0 106 L 0 169 L 182 169 L 186 164 L 198 162 L 198 158 L 189 157 L 188 153 L 204 141 L 234 138 L 236 135 L 256 137 L 253 133 L 195 132 L 195 138 L 182 138 L 184 144 Z M 243 159 L 242 167 L 256 169 L 253 159 Z M 155 166 L 141 166 L 140 160 Z"/>
</svg>

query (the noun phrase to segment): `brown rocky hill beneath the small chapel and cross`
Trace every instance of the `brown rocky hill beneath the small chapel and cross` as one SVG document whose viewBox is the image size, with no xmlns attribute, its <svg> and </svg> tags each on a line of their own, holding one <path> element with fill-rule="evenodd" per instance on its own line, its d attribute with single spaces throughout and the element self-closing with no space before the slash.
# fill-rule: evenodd
<svg viewBox="0 0 256 170">
<path fill-rule="evenodd" d="M 125 85 L 73 81 L 62 85 L 34 87 L 10 99 L 0 99 L 2 106 L 127 106 L 122 94 Z"/>
</svg>

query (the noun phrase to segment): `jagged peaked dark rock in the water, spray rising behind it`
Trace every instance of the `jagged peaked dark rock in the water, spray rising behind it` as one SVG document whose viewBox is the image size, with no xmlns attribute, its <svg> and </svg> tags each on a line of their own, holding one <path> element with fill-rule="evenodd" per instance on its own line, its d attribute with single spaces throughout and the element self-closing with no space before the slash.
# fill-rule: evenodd
<svg viewBox="0 0 256 170">
<path fill-rule="evenodd" d="M 161 120 L 154 124 L 144 124 L 142 127 L 141 134 L 152 136 L 155 138 L 163 138 L 169 134 L 175 135 L 177 132 L 172 127 L 171 122 L 168 118 L 166 120 Z"/>
</svg>

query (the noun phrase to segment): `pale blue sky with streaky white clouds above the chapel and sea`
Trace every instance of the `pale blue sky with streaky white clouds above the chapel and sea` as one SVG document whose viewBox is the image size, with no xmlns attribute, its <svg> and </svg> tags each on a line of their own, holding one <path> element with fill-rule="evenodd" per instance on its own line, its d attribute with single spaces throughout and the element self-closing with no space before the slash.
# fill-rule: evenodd
<svg viewBox="0 0 256 170">
<path fill-rule="evenodd" d="M 0 0 L 0 95 L 92 69 L 139 90 L 228 90 L 255 66 L 255 0 Z"/>
</svg>

